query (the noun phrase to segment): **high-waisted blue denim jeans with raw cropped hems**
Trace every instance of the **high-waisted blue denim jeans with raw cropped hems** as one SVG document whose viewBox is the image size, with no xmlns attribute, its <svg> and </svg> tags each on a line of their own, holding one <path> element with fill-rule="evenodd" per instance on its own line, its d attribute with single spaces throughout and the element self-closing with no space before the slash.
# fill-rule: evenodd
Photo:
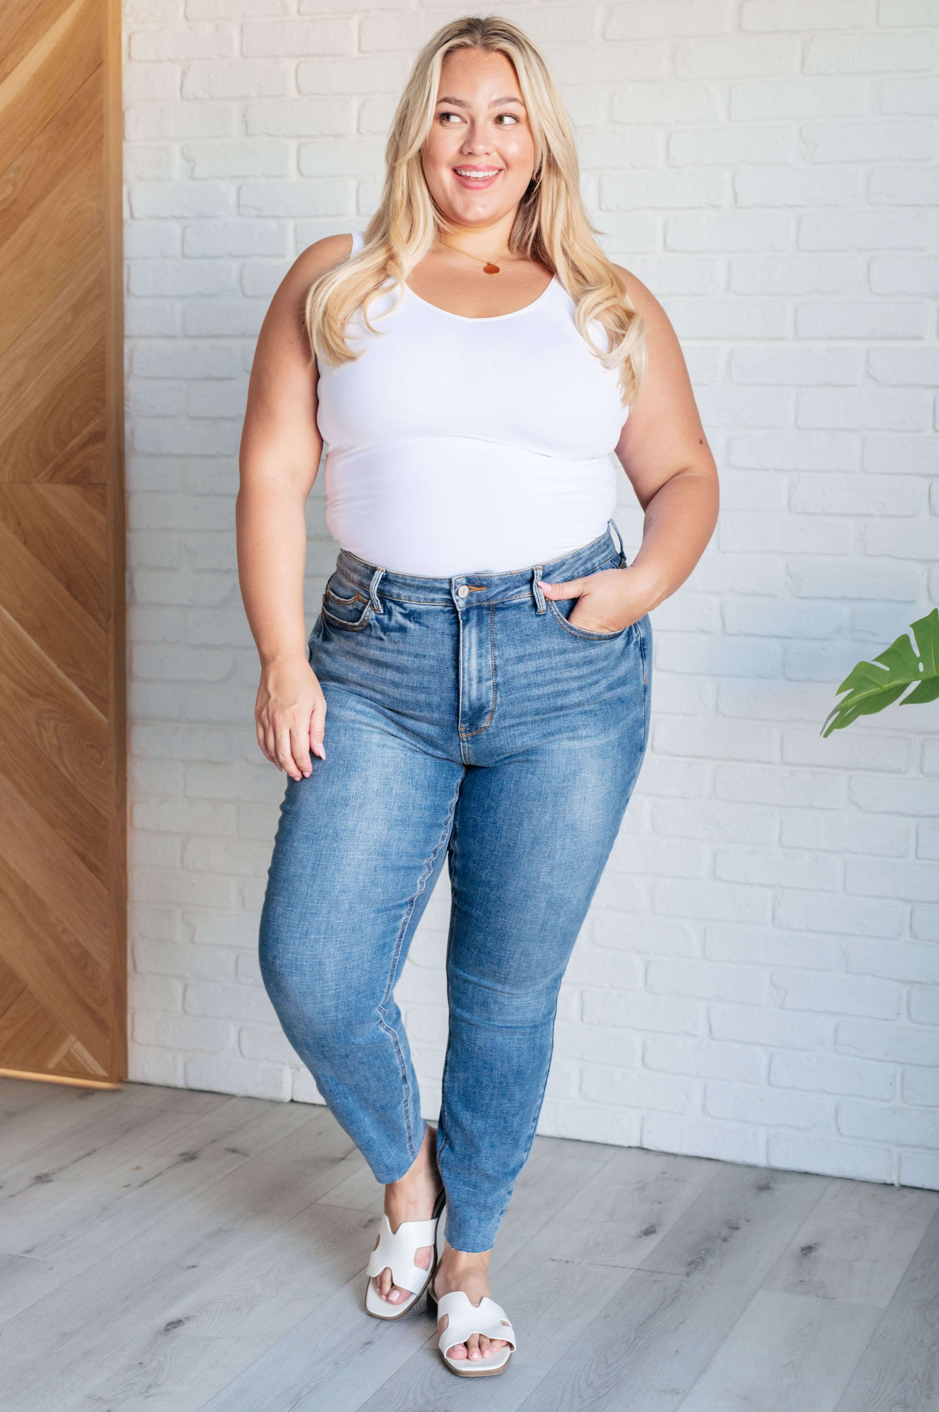
<svg viewBox="0 0 939 1412">
<path fill-rule="evenodd" d="M 623 563 L 610 531 L 452 579 L 343 551 L 309 640 L 326 760 L 287 784 L 261 974 L 330 1110 L 395 1182 L 425 1124 L 394 987 L 448 861 L 436 1151 L 456 1250 L 491 1248 L 528 1156 L 561 980 L 648 738 L 648 617 L 586 633 L 539 579 Z"/>
</svg>

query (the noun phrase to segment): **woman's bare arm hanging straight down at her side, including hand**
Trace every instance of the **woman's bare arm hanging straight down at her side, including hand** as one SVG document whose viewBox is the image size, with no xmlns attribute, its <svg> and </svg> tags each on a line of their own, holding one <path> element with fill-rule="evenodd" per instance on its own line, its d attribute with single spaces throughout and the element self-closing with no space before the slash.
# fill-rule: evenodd
<svg viewBox="0 0 939 1412">
<path fill-rule="evenodd" d="M 322 453 L 304 304 L 313 281 L 350 249 L 349 236 L 319 240 L 282 280 L 258 335 L 241 431 L 239 582 L 261 659 L 257 740 L 294 779 L 309 775 L 311 748 L 325 758 L 326 717 L 304 627 L 304 505 Z"/>
</svg>

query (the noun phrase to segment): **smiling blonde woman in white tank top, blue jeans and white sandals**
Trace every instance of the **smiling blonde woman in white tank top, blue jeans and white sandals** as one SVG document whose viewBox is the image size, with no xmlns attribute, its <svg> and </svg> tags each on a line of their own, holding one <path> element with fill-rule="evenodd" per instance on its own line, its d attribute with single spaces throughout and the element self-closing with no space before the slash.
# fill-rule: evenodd
<svg viewBox="0 0 939 1412">
<path fill-rule="evenodd" d="M 445 25 L 387 161 L 364 241 L 304 251 L 251 370 L 240 579 L 258 744 L 289 775 L 261 970 L 385 1185 L 367 1310 L 400 1317 L 426 1289 L 446 1365 L 479 1377 L 515 1344 L 489 1255 L 645 750 L 647 614 L 698 562 L 717 491 L 672 328 L 600 251 L 525 35 Z M 342 554 L 306 641 L 304 503 L 323 441 Z M 630 566 L 611 452 L 645 508 Z M 393 990 L 445 860 L 432 1132 Z"/>
</svg>

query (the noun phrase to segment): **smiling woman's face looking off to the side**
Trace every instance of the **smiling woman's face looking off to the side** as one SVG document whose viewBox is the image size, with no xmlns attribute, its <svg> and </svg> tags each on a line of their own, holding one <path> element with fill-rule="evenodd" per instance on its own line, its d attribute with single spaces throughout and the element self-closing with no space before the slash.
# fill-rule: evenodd
<svg viewBox="0 0 939 1412">
<path fill-rule="evenodd" d="M 490 226 L 515 209 L 534 172 L 535 144 L 504 54 L 448 54 L 421 157 L 431 195 L 453 225 Z"/>
</svg>

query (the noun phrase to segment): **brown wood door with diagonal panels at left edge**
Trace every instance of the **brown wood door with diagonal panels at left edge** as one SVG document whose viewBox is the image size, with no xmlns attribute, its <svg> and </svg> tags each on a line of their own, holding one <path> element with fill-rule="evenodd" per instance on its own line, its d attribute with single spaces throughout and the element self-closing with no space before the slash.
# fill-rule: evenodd
<svg viewBox="0 0 939 1412">
<path fill-rule="evenodd" d="M 126 1075 L 119 0 L 0 28 L 0 1069 Z"/>
</svg>

